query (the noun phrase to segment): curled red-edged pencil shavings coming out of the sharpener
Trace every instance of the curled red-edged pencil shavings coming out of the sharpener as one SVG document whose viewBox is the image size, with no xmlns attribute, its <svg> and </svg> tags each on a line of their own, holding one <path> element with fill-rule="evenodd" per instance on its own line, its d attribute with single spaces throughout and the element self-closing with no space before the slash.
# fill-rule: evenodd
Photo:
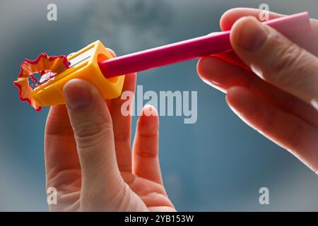
<svg viewBox="0 0 318 226">
<path fill-rule="evenodd" d="M 40 112 L 41 107 L 32 97 L 33 88 L 37 88 L 40 83 L 40 79 L 35 78 L 35 73 L 39 73 L 41 78 L 46 73 L 56 75 L 66 69 L 69 69 L 69 61 L 64 55 L 49 57 L 46 53 L 42 53 L 33 61 L 25 59 L 20 66 L 18 80 L 13 82 L 13 85 L 18 88 L 20 100 L 28 102 L 35 111 Z M 33 84 L 30 84 L 29 79 Z"/>
</svg>

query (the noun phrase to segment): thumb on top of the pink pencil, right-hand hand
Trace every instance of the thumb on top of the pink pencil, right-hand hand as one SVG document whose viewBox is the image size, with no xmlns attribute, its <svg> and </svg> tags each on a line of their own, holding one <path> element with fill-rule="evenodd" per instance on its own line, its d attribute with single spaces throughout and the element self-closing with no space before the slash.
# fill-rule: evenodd
<svg viewBox="0 0 318 226">
<path fill-rule="evenodd" d="M 230 40 L 237 55 L 257 76 L 318 105 L 318 59 L 313 54 L 253 17 L 237 20 Z"/>
</svg>

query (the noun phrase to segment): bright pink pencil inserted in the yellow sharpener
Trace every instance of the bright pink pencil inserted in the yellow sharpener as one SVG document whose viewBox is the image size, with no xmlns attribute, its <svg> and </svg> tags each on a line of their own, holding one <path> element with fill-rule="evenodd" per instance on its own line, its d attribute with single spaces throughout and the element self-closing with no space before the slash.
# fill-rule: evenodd
<svg viewBox="0 0 318 226">
<path fill-rule="evenodd" d="M 286 37 L 310 32 L 310 18 L 307 12 L 276 18 L 264 23 Z M 232 50 L 230 31 L 225 31 L 108 59 L 100 62 L 99 66 L 105 78 L 112 78 L 230 50 Z"/>
</svg>

